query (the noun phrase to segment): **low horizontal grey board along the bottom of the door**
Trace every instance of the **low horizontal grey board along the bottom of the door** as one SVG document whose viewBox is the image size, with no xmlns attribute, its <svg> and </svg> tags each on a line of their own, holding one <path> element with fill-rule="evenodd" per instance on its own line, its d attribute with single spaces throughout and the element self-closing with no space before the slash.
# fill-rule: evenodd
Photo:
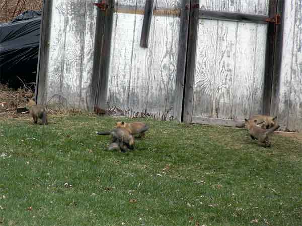
<svg viewBox="0 0 302 226">
<path fill-rule="evenodd" d="M 205 124 L 205 125 L 216 125 L 225 127 L 239 127 L 244 121 L 235 121 L 228 119 L 213 119 L 206 117 L 192 117 L 192 123 Z"/>
</svg>

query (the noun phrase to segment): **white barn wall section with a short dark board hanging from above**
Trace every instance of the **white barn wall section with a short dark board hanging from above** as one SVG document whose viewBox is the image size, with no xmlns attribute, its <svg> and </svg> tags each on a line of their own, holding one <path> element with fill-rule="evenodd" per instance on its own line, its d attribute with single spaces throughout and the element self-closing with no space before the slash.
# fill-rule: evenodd
<svg viewBox="0 0 302 226">
<path fill-rule="evenodd" d="M 180 1 L 155 1 L 147 48 L 139 46 L 144 4 L 123 0 L 116 6 L 108 105 L 129 116 L 168 119 L 174 116 Z"/>
</svg>

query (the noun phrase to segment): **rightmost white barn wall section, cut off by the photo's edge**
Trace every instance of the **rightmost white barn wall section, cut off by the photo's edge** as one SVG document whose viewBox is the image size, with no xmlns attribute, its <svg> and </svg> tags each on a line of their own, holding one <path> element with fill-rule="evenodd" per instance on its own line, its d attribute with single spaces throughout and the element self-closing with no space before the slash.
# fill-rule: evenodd
<svg viewBox="0 0 302 226">
<path fill-rule="evenodd" d="M 284 1 L 283 51 L 274 108 L 281 130 L 302 132 L 302 0 Z"/>
</svg>

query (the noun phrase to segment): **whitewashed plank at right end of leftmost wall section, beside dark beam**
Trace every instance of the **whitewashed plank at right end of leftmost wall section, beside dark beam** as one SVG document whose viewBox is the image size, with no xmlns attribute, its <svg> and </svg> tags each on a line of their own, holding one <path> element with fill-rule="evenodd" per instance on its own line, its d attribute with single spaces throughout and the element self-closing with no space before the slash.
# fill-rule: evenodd
<svg viewBox="0 0 302 226">
<path fill-rule="evenodd" d="M 82 49 L 82 62 L 81 62 L 81 90 L 80 90 L 80 107 L 88 111 L 93 111 L 95 104 L 95 94 L 92 91 L 92 86 L 95 81 L 93 80 L 93 62 L 95 52 L 95 36 L 96 36 L 96 17 L 98 8 L 94 6 L 95 0 L 87 0 L 86 10 L 86 26 L 85 37 Z"/>
</svg>

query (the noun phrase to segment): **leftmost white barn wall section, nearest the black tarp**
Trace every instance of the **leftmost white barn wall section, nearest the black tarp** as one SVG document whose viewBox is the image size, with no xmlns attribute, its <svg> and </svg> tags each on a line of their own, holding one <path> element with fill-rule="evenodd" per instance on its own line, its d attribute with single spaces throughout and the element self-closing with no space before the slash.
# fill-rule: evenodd
<svg viewBox="0 0 302 226">
<path fill-rule="evenodd" d="M 40 100 L 49 106 L 92 108 L 95 2 L 52 1 L 48 67 L 45 75 L 40 75 L 46 77 L 44 99 Z"/>
</svg>

